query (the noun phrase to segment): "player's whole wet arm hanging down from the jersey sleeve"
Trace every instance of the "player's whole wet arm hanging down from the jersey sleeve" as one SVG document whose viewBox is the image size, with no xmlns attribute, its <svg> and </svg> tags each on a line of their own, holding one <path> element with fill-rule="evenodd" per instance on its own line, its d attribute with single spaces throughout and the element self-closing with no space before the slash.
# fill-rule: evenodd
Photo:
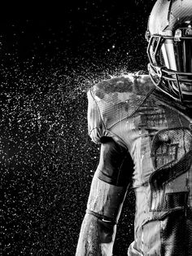
<svg viewBox="0 0 192 256">
<path fill-rule="evenodd" d="M 100 161 L 89 192 L 76 256 L 112 255 L 116 224 L 132 174 L 126 148 L 111 138 L 102 140 Z"/>
</svg>

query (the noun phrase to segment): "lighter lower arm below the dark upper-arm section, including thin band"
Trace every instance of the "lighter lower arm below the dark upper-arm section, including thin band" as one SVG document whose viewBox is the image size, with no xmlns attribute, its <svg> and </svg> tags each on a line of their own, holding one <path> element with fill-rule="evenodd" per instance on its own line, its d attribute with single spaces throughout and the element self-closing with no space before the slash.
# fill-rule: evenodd
<svg viewBox="0 0 192 256">
<path fill-rule="evenodd" d="M 111 256 L 116 236 L 116 223 L 126 194 L 126 187 L 117 187 L 98 179 L 94 174 L 87 214 L 81 226 L 76 256 Z"/>
</svg>

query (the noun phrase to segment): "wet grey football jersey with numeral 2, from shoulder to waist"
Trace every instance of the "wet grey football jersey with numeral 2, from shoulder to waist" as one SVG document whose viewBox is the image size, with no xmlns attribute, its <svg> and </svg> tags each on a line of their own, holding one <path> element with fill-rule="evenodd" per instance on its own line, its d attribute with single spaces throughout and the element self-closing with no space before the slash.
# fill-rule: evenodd
<svg viewBox="0 0 192 256">
<path fill-rule="evenodd" d="M 133 159 L 136 214 L 129 255 L 192 255 L 190 110 L 162 94 L 148 75 L 99 82 L 88 99 L 91 139 L 111 137 Z"/>
</svg>

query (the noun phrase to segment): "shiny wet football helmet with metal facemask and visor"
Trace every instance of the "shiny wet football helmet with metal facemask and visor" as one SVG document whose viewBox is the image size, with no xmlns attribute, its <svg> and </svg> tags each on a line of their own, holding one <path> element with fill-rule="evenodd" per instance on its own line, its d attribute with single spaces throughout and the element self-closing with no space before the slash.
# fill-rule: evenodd
<svg viewBox="0 0 192 256">
<path fill-rule="evenodd" d="M 192 1 L 158 0 L 146 31 L 152 82 L 183 103 L 192 103 Z"/>
</svg>

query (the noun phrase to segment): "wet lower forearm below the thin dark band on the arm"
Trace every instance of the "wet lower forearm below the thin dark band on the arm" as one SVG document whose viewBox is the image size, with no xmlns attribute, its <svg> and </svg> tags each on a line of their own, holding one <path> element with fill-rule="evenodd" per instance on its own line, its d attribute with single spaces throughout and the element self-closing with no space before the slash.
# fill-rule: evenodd
<svg viewBox="0 0 192 256">
<path fill-rule="evenodd" d="M 116 224 L 85 214 L 76 249 L 76 256 L 111 256 L 116 236 Z"/>
</svg>

